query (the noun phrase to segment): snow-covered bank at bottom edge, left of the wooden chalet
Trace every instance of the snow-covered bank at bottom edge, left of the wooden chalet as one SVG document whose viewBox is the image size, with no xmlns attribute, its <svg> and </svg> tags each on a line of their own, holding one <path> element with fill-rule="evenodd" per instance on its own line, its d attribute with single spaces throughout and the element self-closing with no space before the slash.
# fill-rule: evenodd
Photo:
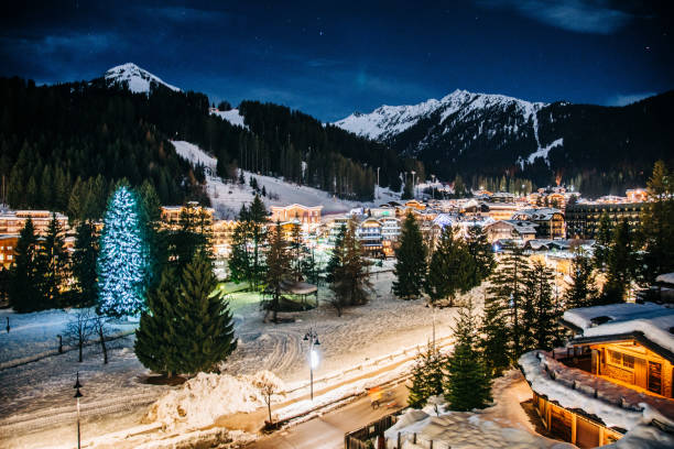
<svg viewBox="0 0 674 449">
<path fill-rule="evenodd" d="M 530 431 L 506 427 L 486 419 L 480 413 L 452 412 L 442 397 L 432 397 L 422 410 L 407 410 L 393 427 L 384 432 L 387 447 L 396 448 L 400 432 L 404 449 L 434 447 L 461 448 L 574 448 Z M 437 407 L 437 408 L 436 408 Z M 416 445 L 413 443 L 416 434 Z"/>
</svg>

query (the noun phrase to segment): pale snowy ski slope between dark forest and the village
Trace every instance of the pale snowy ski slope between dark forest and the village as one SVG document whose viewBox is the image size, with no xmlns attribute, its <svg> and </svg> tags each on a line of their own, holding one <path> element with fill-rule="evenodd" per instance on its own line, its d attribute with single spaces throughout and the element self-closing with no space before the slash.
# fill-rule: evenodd
<svg viewBox="0 0 674 449">
<path fill-rule="evenodd" d="M 181 157 L 193 164 L 202 164 L 209 168 L 210 175 L 206 176 L 206 189 L 213 208 L 220 218 L 235 218 L 239 213 L 242 204 L 250 204 L 252 201 L 254 193 L 249 185 L 250 176 L 258 180 L 260 189 L 264 186 L 264 190 L 276 198 L 270 199 L 269 195 L 263 197 L 262 200 L 267 207 L 287 206 L 294 202 L 304 206 L 323 206 L 322 212 L 326 215 L 343 213 L 356 207 L 370 207 L 400 199 L 400 194 L 392 193 L 388 188 L 380 188 L 378 189 L 379 199 L 376 201 L 350 201 L 337 198 L 317 188 L 301 186 L 280 178 L 257 175 L 246 171 L 243 172 L 246 185 L 225 183 L 215 175 L 217 165 L 215 157 L 189 142 L 173 141 L 172 143 Z"/>
</svg>

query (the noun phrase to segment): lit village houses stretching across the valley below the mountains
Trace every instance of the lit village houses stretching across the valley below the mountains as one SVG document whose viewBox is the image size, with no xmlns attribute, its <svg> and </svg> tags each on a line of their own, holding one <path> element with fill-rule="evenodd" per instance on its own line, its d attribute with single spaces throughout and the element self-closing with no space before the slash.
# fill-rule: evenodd
<svg viewBox="0 0 674 449">
<path fill-rule="evenodd" d="M 322 206 L 272 206 L 269 220 L 271 223 L 280 222 L 286 229 L 300 225 L 305 243 L 311 247 L 330 247 L 340 228 L 354 219 L 363 251 L 373 258 L 394 255 L 402 221 L 410 212 L 430 241 L 437 238 L 446 227 L 458 229 L 465 234 L 468 228 L 479 226 L 483 228 L 496 251 L 511 243 L 532 252 L 553 251 L 563 255 L 570 248 L 591 242 L 604 211 L 609 213 L 613 223 L 627 218 L 630 223 L 637 225 L 645 200 L 643 189 L 628 190 L 626 197 L 611 196 L 595 201 L 585 201 L 578 194 L 567 191 L 564 187 L 541 188 L 523 197 L 481 190 L 472 198 L 391 201 L 378 207 L 356 208 L 340 215 L 322 215 Z M 184 208 L 163 207 L 164 226 L 177 227 Z M 219 261 L 216 263 L 221 265 L 230 253 L 231 236 L 237 221 L 217 219 L 210 208 L 202 210 L 207 213 L 211 226 L 213 250 Z M 52 220 L 52 212 L 0 211 L 0 264 L 4 267 L 13 262 L 19 233 L 29 217 L 33 220 L 36 233 L 44 234 Z M 68 227 L 68 218 L 58 212 L 56 218 L 66 230 L 66 248 L 72 248 L 74 230 Z"/>
</svg>

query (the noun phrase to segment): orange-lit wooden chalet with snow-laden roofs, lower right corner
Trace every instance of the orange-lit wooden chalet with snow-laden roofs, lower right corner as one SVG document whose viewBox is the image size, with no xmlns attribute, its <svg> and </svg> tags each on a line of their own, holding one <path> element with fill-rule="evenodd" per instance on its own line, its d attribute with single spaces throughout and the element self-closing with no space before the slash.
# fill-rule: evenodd
<svg viewBox="0 0 674 449">
<path fill-rule="evenodd" d="M 650 303 L 576 308 L 562 324 L 574 333 L 566 348 L 519 360 L 547 430 L 580 448 L 644 432 L 674 441 L 674 309 Z M 633 447 L 649 447 L 642 445 Z"/>
</svg>

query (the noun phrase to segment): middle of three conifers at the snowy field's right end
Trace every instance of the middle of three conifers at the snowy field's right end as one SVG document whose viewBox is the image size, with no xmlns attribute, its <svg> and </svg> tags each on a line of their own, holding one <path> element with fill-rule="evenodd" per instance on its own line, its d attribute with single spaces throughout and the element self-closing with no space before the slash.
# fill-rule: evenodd
<svg viewBox="0 0 674 449">
<path fill-rule="evenodd" d="M 450 227 L 444 228 L 426 275 L 425 291 L 431 303 L 449 298 L 449 306 L 454 307 L 456 293 L 466 293 L 471 286 L 471 273 L 472 259 L 466 243 L 454 236 Z"/>
</svg>

